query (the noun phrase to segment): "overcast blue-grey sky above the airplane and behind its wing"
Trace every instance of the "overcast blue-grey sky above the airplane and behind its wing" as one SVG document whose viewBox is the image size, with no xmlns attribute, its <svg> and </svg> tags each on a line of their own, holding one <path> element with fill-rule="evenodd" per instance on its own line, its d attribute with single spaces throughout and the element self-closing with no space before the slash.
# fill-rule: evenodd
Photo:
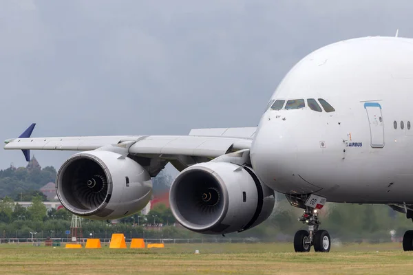
<svg viewBox="0 0 413 275">
<path fill-rule="evenodd" d="M 339 2 L 339 3 L 338 3 Z M 413 37 L 412 1 L 0 1 L 0 140 L 255 126 L 288 69 L 358 36 Z M 34 154 L 42 166 L 72 152 Z M 0 168 L 25 165 L 0 151 Z"/>
</svg>

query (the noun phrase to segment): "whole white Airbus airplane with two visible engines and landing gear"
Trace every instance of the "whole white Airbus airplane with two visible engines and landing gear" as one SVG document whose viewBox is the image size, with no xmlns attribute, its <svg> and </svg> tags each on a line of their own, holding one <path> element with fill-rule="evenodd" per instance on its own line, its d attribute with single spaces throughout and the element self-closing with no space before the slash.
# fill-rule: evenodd
<svg viewBox="0 0 413 275">
<path fill-rule="evenodd" d="M 279 83 L 257 127 L 193 129 L 189 135 L 30 137 L 5 149 L 72 150 L 56 190 L 67 210 L 118 219 L 141 210 L 151 177 L 180 173 L 169 200 L 176 220 L 203 234 L 242 232 L 265 221 L 275 192 L 302 208 L 308 230 L 296 252 L 329 252 L 319 209 L 377 203 L 413 220 L 413 39 L 362 37 L 315 50 Z M 413 230 L 403 236 L 413 250 Z"/>
</svg>

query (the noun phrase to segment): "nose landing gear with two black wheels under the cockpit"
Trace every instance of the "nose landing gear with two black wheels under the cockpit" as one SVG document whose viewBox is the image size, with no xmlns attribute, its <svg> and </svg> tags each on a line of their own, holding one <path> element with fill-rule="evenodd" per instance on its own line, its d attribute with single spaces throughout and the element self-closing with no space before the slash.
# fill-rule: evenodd
<svg viewBox="0 0 413 275">
<path fill-rule="evenodd" d="M 330 252 L 331 239 L 327 230 L 319 230 L 320 221 L 316 208 L 322 208 L 326 202 L 326 198 L 317 195 L 310 197 L 293 197 L 287 196 L 288 201 L 292 206 L 304 208 L 304 214 L 299 217 L 299 221 L 308 225 L 307 230 L 298 230 L 294 236 L 295 252 L 310 252 L 313 245 L 315 252 Z M 412 241 L 410 242 L 413 250 L 413 231 Z M 403 243 L 404 245 L 404 243 Z"/>
</svg>

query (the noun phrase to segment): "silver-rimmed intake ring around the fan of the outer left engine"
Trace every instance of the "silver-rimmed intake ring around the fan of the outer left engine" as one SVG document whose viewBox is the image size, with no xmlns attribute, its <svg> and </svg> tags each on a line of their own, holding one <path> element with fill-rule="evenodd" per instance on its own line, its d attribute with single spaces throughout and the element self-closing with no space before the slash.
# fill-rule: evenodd
<svg viewBox="0 0 413 275">
<path fill-rule="evenodd" d="M 105 188 L 106 194 L 104 197 L 98 199 L 98 206 L 95 207 L 87 207 L 83 203 L 81 203 L 80 199 L 74 196 L 73 193 L 70 191 L 73 190 L 73 180 L 75 175 L 69 175 L 67 178 L 66 173 L 73 173 L 74 169 L 77 168 L 76 164 L 84 164 L 84 163 L 92 164 L 96 166 L 95 168 L 100 170 L 101 176 L 105 179 Z M 65 177 L 66 176 L 66 177 Z M 113 181 L 112 175 L 109 173 L 109 169 L 107 168 L 105 162 L 103 162 L 99 157 L 93 155 L 91 153 L 78 153 L 73 155 L 61 166 L 61 169 L 56 175 L 56 193 L 59 197 L 59 200 L 63 204 L 63 206 L 73 214 L 78 216 L 92 216 L 97 214 L 105 209 L 107 204 L 109 203 L 109 199 L 112 196 L 113 190 Z M 85 181 L 87 184 L 87 181 Z"/>
</svg>

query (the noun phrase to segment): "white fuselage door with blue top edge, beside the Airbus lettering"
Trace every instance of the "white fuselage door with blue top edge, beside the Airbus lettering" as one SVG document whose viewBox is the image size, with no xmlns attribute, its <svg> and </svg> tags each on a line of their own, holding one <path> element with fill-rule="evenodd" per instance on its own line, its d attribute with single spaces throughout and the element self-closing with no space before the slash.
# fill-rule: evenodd
<svg viewBox="0 0 413 275">
<path fill-rule="evenodd" d="M 381 113 L 381 105 L 377 102 L 364 103 L 366 109 L 368 126 L 370 128 L 370 146 L 372 148 L 384 147 L 384 120 Z"/>
</svg>

